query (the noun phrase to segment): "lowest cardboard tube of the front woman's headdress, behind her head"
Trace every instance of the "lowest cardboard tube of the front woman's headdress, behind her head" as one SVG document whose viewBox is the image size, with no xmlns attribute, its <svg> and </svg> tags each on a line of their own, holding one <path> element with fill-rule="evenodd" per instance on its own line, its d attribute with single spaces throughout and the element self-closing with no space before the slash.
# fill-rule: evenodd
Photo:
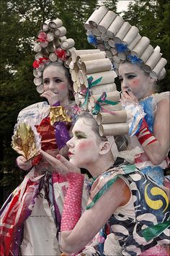
<svg viewBox="0 0 170 256">
<path fill-rule="evenodd" d="M 127 123 L 118 124 L 100 124 L 99 135 L 100 136 L 115 136 L 115 135 L 127 135 L 129 127 Z"/>
</svg>

